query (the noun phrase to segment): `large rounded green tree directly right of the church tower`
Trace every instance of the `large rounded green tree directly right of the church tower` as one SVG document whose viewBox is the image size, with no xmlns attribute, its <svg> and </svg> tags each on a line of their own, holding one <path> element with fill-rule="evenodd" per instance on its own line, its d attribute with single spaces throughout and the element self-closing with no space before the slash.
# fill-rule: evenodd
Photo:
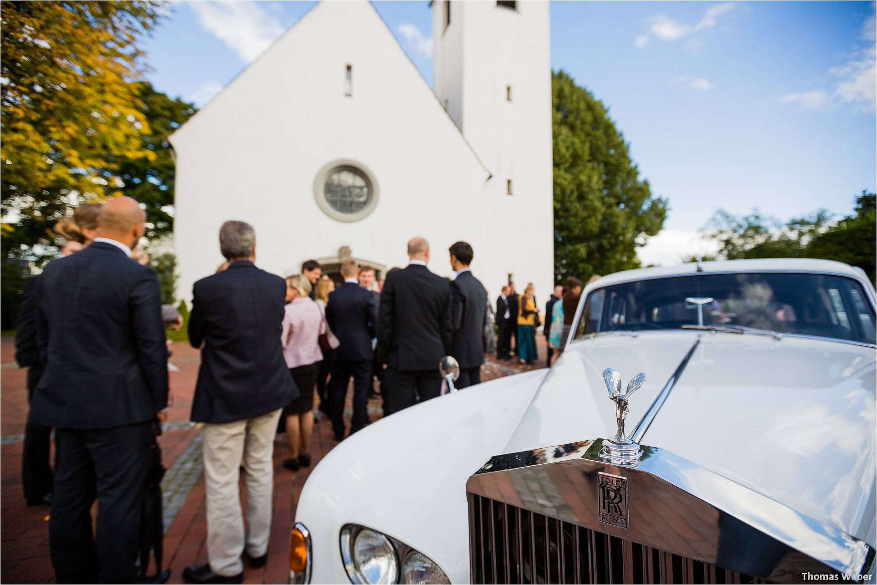
<svg viewBox="0 0 877 585">
<path fill-rule="evenodd" d="M 637 247 L 660 232 L 667 200 L 652 197 L 609 111 L 587 89 L 560 70 L 552 98 L 558 282 L 638 268 Z"/>
</svg>

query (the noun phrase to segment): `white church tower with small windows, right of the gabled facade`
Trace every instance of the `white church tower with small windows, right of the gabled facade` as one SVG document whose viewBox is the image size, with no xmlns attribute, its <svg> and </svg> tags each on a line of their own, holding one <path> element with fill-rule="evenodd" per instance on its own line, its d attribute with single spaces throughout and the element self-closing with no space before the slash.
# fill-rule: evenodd
<svg viewBox="0 0 877 585">
<path fill-rule="evenodd" d="M 433 89 L 492 174 L 485 237 L 508 242 L 481 262 L 508 268 L 518 293 L 534 282 L 538 299 L 553 287 L 549 29 L 547 2 L 432 3 Z"/>
</svg>

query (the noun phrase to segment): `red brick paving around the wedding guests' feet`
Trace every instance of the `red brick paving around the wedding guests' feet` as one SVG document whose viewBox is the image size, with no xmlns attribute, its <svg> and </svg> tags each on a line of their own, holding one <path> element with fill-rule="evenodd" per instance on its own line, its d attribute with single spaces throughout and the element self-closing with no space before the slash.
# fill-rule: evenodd
<svg viewBox="0 0 877 585">
<path fill-rule="evenodd" d="M 545 355 L 545 338 L 538 336 L 539 353 Z M 53 582 L 53 570 L 48 552 L 48 508 L 26 507 L 21 491 L 22 433 L 25 432 L 27 399 L 25 372 L 12 359 L 12 339 L 0 339 L 0 582 L 46 583 Z M 194 563 L 207 561 L 205 539 L 204 482 L 201 474 L 200 428 L 189 424 L 192 393 L 198 368 L 198 353 L 189 346 L 177 344 L 171 362 L 179 371 L 171 375 L 171 390 L 175 404 L 168 416 L 166 430 L 159 439 L 162 458 L 168 473 L 162 482 L 165 499 L 165 559 L 170 567 L 170 583 L 182 583 L 182 569 Z M 516 374 L 525 369 L 542 367 L 544 358 L 534 366 L 519 366 L 510 361 L 488 360 L 483 367 L 485 380 Z M 350 392 L 348 392 L 347 422 L 349 426 Z M 368 403 L 372 420 L 380 417 L 380 399 Z M 311 468 L 336 443 L 328 421 L 320 421 L 314 428 L 310 445 Z M 246 568 L 246 583 L 287 582 L 289 556 L 289 529 L 295 517 L 296 501 L 310 469 L 292 474 L 281 467 L 288 456 L 285 435 L 275 441 L 275 504 L 271 540 L 268 546 L 267 567 Z M 241 482 L 241 495 L 245 492 Z"/>
</svg>

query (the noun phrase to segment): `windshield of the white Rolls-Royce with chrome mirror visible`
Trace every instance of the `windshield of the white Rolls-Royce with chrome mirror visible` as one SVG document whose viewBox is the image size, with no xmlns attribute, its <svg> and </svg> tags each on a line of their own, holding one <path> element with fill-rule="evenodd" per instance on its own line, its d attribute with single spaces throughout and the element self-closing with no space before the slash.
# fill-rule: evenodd
<svg viewBox="0 0 877 585">
<path fill-rule="evenodd" d="M 874 343 L 874 312 L 859 282 L 836 275 L 697 274 L 592 291 L 576 337 L 709 329 L 780 332 Z"/>
</svg>

